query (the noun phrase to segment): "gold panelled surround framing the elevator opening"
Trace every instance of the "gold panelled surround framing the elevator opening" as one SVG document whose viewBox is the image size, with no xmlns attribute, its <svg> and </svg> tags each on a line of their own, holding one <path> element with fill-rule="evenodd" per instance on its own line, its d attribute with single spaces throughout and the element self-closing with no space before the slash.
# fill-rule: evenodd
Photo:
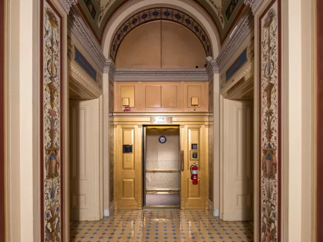
<svg viewBox="0 0 323 242">
<path fill-rule="evenodd" d="M 179 126 L 180 149 L 183 152 L 183 167 L 180 166 L 180 209 L 208 209 L 208 132 L 212 126 L 212 116 L 208 112 L 194 113 L 114 113 L 114 194 L 115 209 L 142 209 L 143 208 L 143 126 Z M 168 123 L 155 124 L 153 120 L 159 117 L 168 117 Z M 130 132 L 132 131 L 132 132 Z M 126 134 L 126 133 L 127 134 Z M 131 134 L 130 134 L 131 133 Z M 193 162 L 189 160 L 190 134 L 199 137 L 199 156 L 201 162 L 198 177 L 200 179 L 198 193 L 194 192 L 194 186 L 190 180 L 189 166 Z M 131 144 L 133 152 L 131 166 L 127 170 L 133 172 L 133 176 L 123 176 L 123 164 L 125 164 L 122 146 L 123 136 L 133 136 Z M 125 136 L 125 137 L 126 137 Z M 128 137 L 130 139 L 130 137 Z M 130 142 L 130 140 L 129 140 Z M 129 143 L 128 142 L 128 143 Z M 196 143 L 195 141 L 192 143 Z M 130 143 L 129 143 L 130 144 Z M 131 187 L 129 187 L 131 186 Z"/>
</svg>

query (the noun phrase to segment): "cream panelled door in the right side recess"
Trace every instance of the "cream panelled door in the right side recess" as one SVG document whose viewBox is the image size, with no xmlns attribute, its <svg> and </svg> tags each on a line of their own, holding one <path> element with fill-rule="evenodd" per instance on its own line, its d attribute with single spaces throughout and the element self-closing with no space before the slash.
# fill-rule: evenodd
<svg viewBox="0 0 323 242">
<path fill-rule="evenodd" d="M 252 217 L 252 101 L 224 100 L 224 220 Z"/>
</svg>

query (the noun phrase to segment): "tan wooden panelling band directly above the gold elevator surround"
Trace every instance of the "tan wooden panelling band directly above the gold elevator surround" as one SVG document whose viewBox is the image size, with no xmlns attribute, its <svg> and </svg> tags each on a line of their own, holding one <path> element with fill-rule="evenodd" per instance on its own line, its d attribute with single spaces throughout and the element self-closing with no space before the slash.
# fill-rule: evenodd
<svg viewBox="0 0 323 242">
<path fill-rule="evenodd" d="M 208 82 L 115 82 L 115 112 L 123 112 L 129 98 L 131 112 L 208 112 Z"/>
</svg>

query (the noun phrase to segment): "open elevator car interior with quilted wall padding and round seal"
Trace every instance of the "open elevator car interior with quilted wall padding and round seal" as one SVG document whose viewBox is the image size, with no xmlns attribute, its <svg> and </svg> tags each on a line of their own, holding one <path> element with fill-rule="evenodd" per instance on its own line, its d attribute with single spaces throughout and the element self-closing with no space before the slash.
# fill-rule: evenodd
<svg viewBox="0 0 323 242">
<path fill-rule="evenodd" d="M 180 206 L 180 129 L 144 129 L 144 206 Z"/>
</svg>

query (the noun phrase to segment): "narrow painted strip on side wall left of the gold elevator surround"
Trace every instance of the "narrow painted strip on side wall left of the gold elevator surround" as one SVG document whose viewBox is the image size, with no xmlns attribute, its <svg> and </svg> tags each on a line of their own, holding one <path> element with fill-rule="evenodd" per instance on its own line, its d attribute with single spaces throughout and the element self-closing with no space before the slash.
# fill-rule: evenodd
<svg viewBox="0 0 323 242">
<path fill-rule="evenodd" d="M 114 176 L 114 122 L 113 122 L 113 110 L 114 110 L 114 86 L 113 83 L 109 83 L 109 150 L 110 150 L 110 202 L 115 198 L 115 176 Z"/>
</svg>

